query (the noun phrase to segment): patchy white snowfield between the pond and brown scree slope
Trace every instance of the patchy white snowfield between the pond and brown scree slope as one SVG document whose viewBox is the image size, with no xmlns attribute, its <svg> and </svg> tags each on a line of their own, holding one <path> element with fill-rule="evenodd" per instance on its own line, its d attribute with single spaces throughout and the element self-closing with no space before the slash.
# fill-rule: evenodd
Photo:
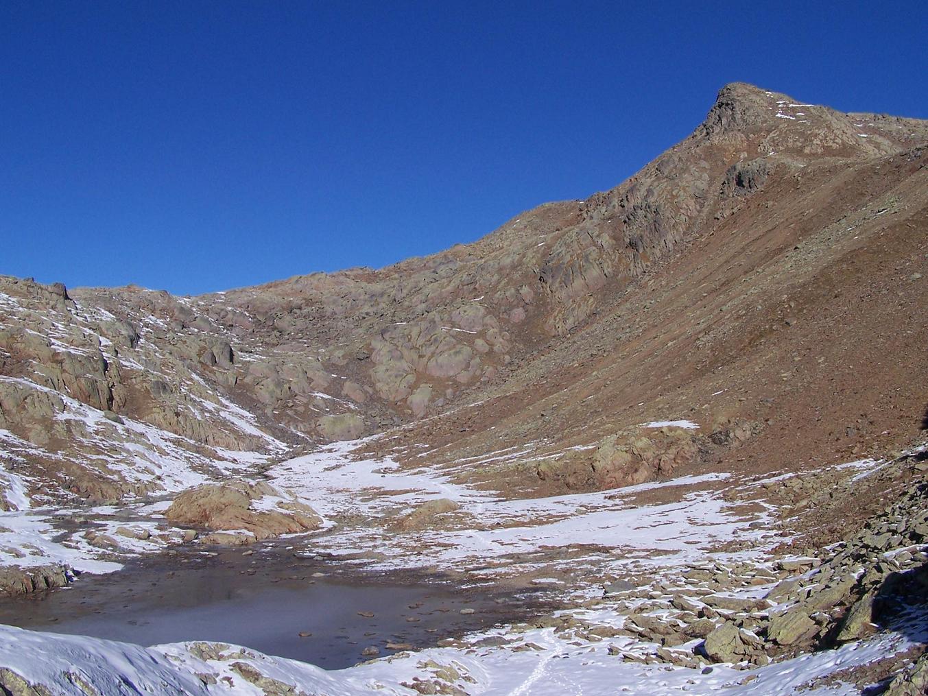
<svg viewBox="0 0 928 696">
<path fill-rule="evenodd" d="M 305 457 L 271 467 L 273 483 L 290 490 L 324 517 L 337 515 L 382 519 L 380 525 L 343 524 L 328 535 L 309 541 L 317 551 L 336 556 L 369 552 L 365 563 L 411 568 L 428 564 L 437 569 L 458 569 L 475 562 L 506 562 L 507 557 L 539 549 L 599 546 L 621 551 L 618 558 L 595 562 L 599 572 L 617 571 L 630 563 L 680 565 L 702 559 L 710 548 L 740 539 L 752 546 L 772 537 L 757 524 L 763 512 L 744 516 L 721 495 L 726 474 L 683 476 L 660 483 L 566 496 L 510 500 L 452 483 L 424 464 L 417 470 L 400 470 L 391 459 L 353 459 L 350 452 L 362 442 L 336 443 Z M 713 483 L 710 488 L 704 484 Z M 671 502 L 636 505 L 633 498 L 657 488 L 675 488 Z M 690 488 L 695 490 L 690 491 Z M 459 508 L 421 530 L 391 533 L 389 521 L 420 504 L 438 498 Z M 371 561 L 370 553 L 389 548 L 389 555 Z M 613 554 L 613 556 L 616 556 Z M 563 561 L 576 569 L 577 559 Z M 518 570 L 531 569 L 520 563 Z M 607 567 L 608 566 L 608 567 Z M 498 571 L 494 574 L 500 574 Z"/>
</svg>

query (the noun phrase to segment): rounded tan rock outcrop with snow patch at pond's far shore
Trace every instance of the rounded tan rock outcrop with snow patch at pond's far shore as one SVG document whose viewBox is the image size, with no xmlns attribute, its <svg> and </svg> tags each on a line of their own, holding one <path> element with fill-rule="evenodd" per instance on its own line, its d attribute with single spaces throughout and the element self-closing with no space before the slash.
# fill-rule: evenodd
<svg viewBox="0 0 928 696">
<path fill-rule="evenodd" d="M 268 483 L 201 485 L 175 497 L 165 515 L 171 522 L 217 533 L 202 537 L 203 543 L 248 544 L 322 525 L 315 510 Z"/>
</svg>

